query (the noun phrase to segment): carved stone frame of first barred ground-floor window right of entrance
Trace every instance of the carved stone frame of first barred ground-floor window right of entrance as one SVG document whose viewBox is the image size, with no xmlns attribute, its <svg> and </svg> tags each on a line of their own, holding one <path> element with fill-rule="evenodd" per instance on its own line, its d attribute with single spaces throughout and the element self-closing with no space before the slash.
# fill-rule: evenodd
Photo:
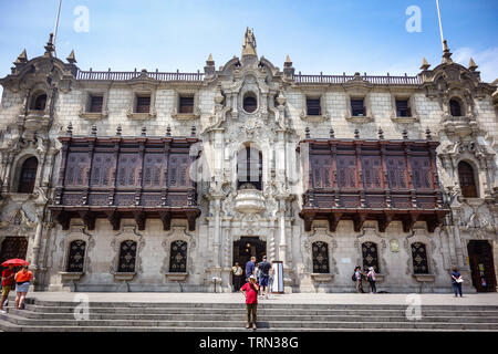
<svg viewBox="0 0 498 354">
<path fill-rule="evenodd" d="M 313 273 L 313 253 L 312 244 L 314 242 L 325 242 L 329 249 L 329 273 Z M 317 282 L 330 282 L 338 273 L 336 262 L 334 259 L 334 251 L 338 248 L 338 242 L 335 240 L 334 233 L 331 233 L 326 228 L 313 228 L 312 233 L 310 233 L 303 241 L 303 247 L 305 252 L 305 270 L 310 273 L 311 278 Z"/>
</svg>

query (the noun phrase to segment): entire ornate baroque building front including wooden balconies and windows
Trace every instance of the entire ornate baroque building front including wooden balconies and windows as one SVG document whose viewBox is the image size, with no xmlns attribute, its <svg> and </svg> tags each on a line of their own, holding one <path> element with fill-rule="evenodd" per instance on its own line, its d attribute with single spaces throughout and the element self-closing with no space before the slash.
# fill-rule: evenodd
<svg viewBox="0 0 498 354">
<path fill-rule="evenodd" d="M 268 254 L 287 292 L 353 291 L 372 264 L 390 292 L 448 292 L 452 267 L 496 291 L 497 87 L 447 46 L 416 76 L 280 70 L 249 30 L 204 73 L 53 53 L 0 80 L 0 251 L 37 290 L 231 291 Z"/>
</svg>

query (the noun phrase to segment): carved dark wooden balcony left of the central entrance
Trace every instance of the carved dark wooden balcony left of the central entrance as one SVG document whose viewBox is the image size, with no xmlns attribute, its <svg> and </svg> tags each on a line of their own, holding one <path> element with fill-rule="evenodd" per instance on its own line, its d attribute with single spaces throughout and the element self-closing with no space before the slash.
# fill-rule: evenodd
<svg viewBox="0 0 498 354">
<path fill-rule="evenodd" d="M 123 218 L 136 220 L 139 230 L 149 218 L 188 220 L 195 230 L 200 215 L 196 184 L 190 179 L 195 137 L 63 136 L 62 162 L 54 219 L 66 230 L 71 218 L 81 218 L 90 230 L 106 218 L 114 230 Z"/>
</svg>

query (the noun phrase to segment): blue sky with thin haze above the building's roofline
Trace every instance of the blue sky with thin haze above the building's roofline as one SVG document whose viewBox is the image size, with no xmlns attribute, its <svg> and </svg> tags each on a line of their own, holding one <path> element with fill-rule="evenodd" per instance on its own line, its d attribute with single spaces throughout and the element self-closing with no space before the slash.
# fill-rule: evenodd
<svg viewBox="0 0 498 354">
<path fill-rule="evenodd" d="M 43 54 L 58 3 L 0 0 L 0 77 L 23 49 Z M 498 1 L 439 3 L 454 61 L 498 79 Z M 81 70 L 203 72 L 209 53 L 217 67 L 240 56 L 246 27 L 258 55 L 282 69 L 289 54 L 303 74 L 416 75 L 424 56 L 442 60 L 436 0 L 62 0 L 56 55 L 74 50 Z"/>
</svg>

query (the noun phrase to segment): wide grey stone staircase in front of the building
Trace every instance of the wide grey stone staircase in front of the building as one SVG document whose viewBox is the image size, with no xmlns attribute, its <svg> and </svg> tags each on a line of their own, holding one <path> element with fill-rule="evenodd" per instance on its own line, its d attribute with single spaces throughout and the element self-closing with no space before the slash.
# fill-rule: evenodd
<svg viewBox="0 0 498 354">
<path fill-rule="evenodd" d="M 11 302 L 12 304 L 12 302 Z M 77 308 L 80 306 L 80 308 Z M 238 303 L 92 302 L 89 320 L 76 302 L 28 299 L 24 310 L 7 308 L 0 330 L 12 332 L 248 331 Z M 258 331 L 498 331 L 498 305 L 424 305 L 409 321 L 406 305 L 295 304 L 258 306 Z M 76 313 L 76 315 L 75 315 Z M 251 331 L 251 330 L 249 330 Z"/>
</svg>

